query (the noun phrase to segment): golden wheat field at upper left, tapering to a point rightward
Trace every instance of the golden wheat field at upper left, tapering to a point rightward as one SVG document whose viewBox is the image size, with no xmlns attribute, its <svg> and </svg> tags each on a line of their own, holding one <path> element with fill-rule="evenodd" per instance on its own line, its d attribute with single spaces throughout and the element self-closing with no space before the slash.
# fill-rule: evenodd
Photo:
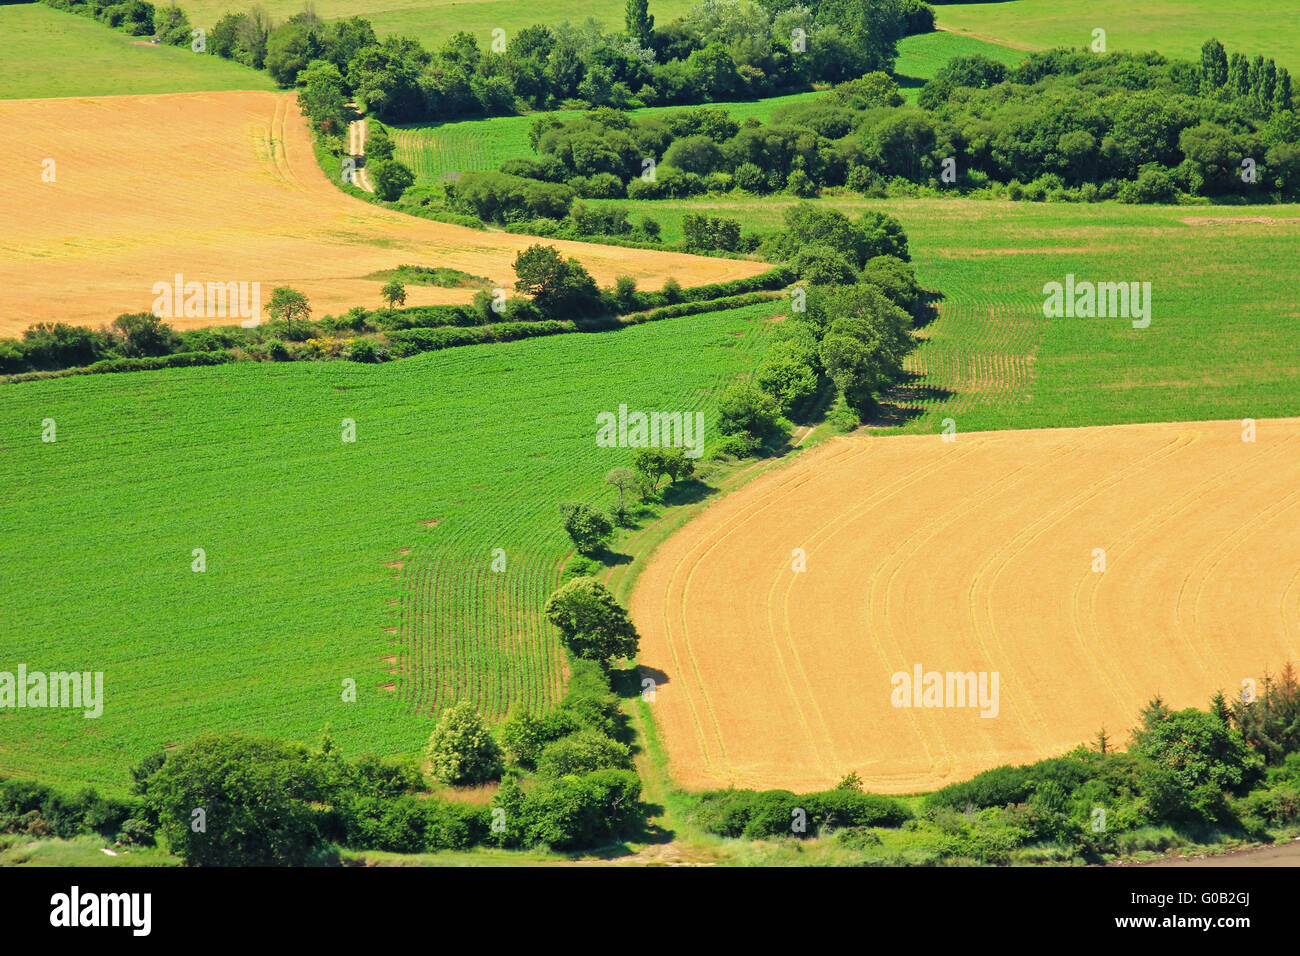
<svg viewBox="0 0 1300 956">
<path fill-rule="evenodd" d="M 153 285 L 260 282 L 303 291 L 316 315 L 381 304 L 403 263 L 506 289 L 526 235 L 478 232 L 369 206 L 321 172 L 292 94 L 198 92 L 0 101 L 10 133 L 0 185 L 0 334 L 36 321 L 99 325 L 153 304 Z M 602 285 L 658 287 L 753 276 L 762 263 L 545 241 Z M 471 289 L 410 286 L 407 304 Z M 176 319 L 179 328 L 230 319 Z"/>
</svg>

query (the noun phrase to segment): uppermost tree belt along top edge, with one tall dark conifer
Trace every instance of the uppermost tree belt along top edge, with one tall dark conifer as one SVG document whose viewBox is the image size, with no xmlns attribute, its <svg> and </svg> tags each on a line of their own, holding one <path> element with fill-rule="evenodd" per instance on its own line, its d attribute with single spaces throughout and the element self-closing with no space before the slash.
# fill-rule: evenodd
<svg viewBox="0 0 1300 956">
<path fill-rule="evenodd" d="M 281 25 L 226 14 L 208 51 L 266 69 L 281 86 L 300 85 L 313 64 L 330 64 L 329 100 L 354 99 L 384 120 L 417 122 L 463 114 L 575 104 L 640 107 L 770 96 L 888 70 L 897 40 L 928 30 L 918 0 L 734 0 L 701 3 L 655 26 L 646 0 L 630 0 L 625 27 L 530 26 L 489 48 L 458 33 L 437 51 L 416 40 L 377 40 L 360 17 L 322 22 L 308 9 Z"/>
</svg>

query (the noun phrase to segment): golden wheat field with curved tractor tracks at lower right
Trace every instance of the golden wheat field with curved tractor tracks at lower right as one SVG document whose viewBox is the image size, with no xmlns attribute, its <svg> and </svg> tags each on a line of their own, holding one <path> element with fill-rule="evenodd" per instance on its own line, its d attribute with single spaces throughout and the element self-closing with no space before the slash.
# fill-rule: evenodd
<svg viewBox="0 0 1300 956">
<path fill-rule="evenodd" d="M 632 597 L 673 778 L 928 790 L 1300 661 L 1300 419 L 1243 436 L 838 438 L 719 501 Z"/>
</svg>

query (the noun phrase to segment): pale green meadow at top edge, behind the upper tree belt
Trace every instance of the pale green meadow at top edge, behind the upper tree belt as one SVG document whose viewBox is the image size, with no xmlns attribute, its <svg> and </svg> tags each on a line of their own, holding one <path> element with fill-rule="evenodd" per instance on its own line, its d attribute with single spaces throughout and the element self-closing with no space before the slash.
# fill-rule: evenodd
<svg viewBox="0 0 1300 956">
<path fill-rule="evenodd" d="M 179 7 L 196 26 L 211 27 L 226 13 L 240 13 L 261 7 L 277 23 L 299 13 L 304 0 L 181 0 Z M 607 30 L 623 29 L 623 0 L 558 0 L 545 7 L 532 7 L 516 0 L 313 0 L 322 20 L 364 17 L 380 36 L 398 34 L 412 36 L 429 49 L 437 49 L 451 34 L 465 30 L 488 47 L 493 30 L 515 30 L 534 23 L 581 23 L 588 17 L 599 20 Z M 692 0 L 651 0 L 650 13 L 667 23 L 690 9 Z"/>
</svg>

